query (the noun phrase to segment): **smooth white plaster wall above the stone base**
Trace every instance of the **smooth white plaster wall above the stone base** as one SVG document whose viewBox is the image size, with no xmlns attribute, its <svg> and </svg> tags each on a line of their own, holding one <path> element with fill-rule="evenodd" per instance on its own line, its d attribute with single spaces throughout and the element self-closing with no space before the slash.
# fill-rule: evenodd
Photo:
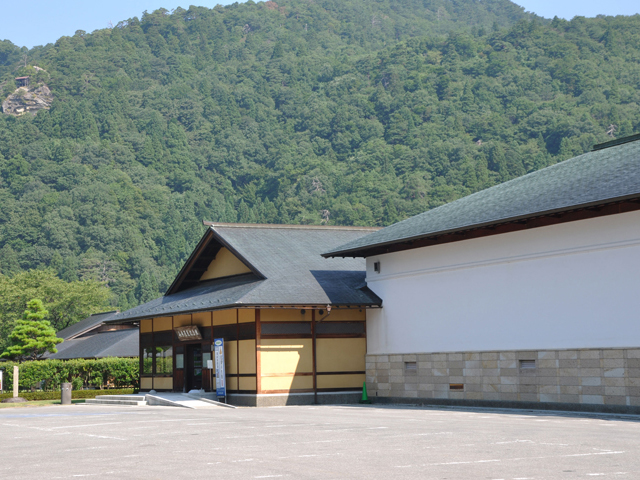
<svg viewBox="0 0 640 480">
<path fill-rule="evenodd" d="M 369 257 L 367 283 L 369 354 L 639 346 L 640 212 Z"/>
</svg>

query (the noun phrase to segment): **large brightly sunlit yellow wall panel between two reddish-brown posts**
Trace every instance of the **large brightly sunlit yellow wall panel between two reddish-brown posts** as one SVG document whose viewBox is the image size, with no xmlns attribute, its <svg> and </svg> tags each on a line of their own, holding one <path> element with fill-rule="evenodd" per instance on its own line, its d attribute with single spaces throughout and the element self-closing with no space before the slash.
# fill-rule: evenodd
<svg viewBox="0 0 640 480">
<path fill-rule="evenodd" d="M 262 339 L 262 373 L 308 373 L 313 371 L 311 339 Z"/>
</svg>

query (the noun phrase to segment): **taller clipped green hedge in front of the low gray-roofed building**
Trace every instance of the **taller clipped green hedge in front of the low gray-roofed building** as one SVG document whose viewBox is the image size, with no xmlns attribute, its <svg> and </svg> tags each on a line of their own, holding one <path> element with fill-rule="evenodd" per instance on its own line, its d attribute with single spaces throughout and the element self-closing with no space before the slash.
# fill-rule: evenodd
<svg viewBox="0 0 640 480">
<path fill-rule="evenodd" d="M 59 392 L 60 384 L 64 382 L 72 382 L 74 390 L 81 390 L 84 387 L 100 389 L 139 387 L 138 358 L 36 360 L 20 364 L 3 362 L 0 363 L 0 368 L 5 370 L 5 390 L 13 388 L 14 365 L 20 369 L 18 386 L 21 391 L 41 389 Z"/>
</svg>

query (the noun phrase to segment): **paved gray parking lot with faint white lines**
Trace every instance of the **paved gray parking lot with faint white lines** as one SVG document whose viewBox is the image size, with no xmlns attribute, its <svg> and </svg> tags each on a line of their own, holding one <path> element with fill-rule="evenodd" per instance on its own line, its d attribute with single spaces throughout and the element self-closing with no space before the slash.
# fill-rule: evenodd
<svg viewBox="0 0 640 480">
<path fill-rule="evenodd" d="M 0 411 L 0 478 L 638 479 L 640 418 L 416 407 Z"/>
</svg>

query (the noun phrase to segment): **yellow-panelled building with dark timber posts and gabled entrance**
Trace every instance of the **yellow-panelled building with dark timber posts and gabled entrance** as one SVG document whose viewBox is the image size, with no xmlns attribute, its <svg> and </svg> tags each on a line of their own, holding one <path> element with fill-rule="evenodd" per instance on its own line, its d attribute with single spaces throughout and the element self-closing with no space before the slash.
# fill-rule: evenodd
<svg viewBox="0 0 640 480">
<path fill-rule="evenodd" d="M 365 312 L 381 301 L 363 259 L 320 254 L 376 229 L 206 225 L 163 297 L 110 320 L 140 326 L 141 389 L 211 391 L 223 338 L 231 403 L 359 400 Z"/>
</svg>

